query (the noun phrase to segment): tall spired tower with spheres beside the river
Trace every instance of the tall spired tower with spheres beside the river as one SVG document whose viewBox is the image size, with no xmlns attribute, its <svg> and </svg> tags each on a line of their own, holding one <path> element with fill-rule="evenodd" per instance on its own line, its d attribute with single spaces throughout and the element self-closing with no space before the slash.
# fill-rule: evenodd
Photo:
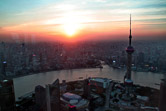
<svg viewBox="0 0 166 111">
<path fill-rule="evenodd" d="M 131 39 L 132 39 L 132 35 L 131 35 L 131 14 L 130 14 L 130 35 L 129 35 L 129 46 L 126 48 L 126 52 L 127 52 L 127 72 L 126 75 L 124 77 L 124 83 L 127 86 L 131 86 L 133 84 L 133 81 L 131 80 L 131 64 L 132 64 L 132 54 L 134 52 L 134 48 L 131 46 Z"/>
</svg>

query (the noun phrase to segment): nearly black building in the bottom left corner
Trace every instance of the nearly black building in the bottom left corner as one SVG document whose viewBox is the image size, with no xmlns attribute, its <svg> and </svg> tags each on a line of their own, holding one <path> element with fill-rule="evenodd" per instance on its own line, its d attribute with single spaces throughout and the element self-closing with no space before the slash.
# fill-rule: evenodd
<svg viewBox="0 0 166 111">
<path fill-rule="evenodd" d="M 0 81 L 0 111 L 15 110 L 13 80 Z"/>
</svg>

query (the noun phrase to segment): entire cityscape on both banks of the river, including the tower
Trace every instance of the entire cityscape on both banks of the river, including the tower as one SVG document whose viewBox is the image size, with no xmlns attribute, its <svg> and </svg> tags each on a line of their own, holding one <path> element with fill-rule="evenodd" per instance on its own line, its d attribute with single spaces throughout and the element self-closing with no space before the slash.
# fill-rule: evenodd
<svg viewBox="0 0 166 111">
<path fill-rule="evenodd" d="M 0 102 L 0 110 L 164 111 L 165 79 L 160 85 L 160 95 L 159 90 L 136 85 L 131 79 L 132 71 L 164 73 L 166 71 L 165 68 L 159 67 L 159 64 L 161 64 L 159 60 L 163 53 L 160 56 L 156 55 L 157 52 L 164 50 L 164 47 L 155 42 L 153 46 L 158 45 L 160 49 L 149 50 L 146 54 L 147 49 L 141 49 L 144 46 L 142 44 L 139 46 L 140 41 L 134 42 L 135 49 L 139 51 L 134 50 L 131 45 L 131 39 L 130 17 L 130 35 L 127 43 L 124 41 L 92 43 L 86 41 L 79 44 L 2 42 L 0 51 L 0 98 L 4 101 Z M 125 53 L 122 48 L 127 44 L 128 47 Z M 153 48 L 153 46 L 149 47 Z M 12 48 L 12 50 L 8 48 Z M 133 53 L 134 51 L 135 53 Z M 69 82 L 63 80 L 61 83 L 57 79 L 52 84 L 46 84 L 45 87 L 36 86 L 33 92 L 17 98 L 15 102 L 14 85 L 9 78 L 74 68 L 99 68 L 102 70 L 103 64 L 107 64 L 109 67 L 117 70 L 126 70 L 124 81 L 120 82 L 103 77 L 86 77 L 85 79 L 80 77 L 80 80 Z"/>
</svg>

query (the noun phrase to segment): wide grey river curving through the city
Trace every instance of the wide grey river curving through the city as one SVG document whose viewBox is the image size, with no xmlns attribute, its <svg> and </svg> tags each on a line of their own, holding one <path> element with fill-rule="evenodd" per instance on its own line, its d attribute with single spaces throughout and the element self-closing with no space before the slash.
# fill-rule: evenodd
<svg viewBox="0 0 166 111">
<path fill-rule="evenodd" d="M 123 77 L 126 71 L 113 69 L 108 65 L 103 65 L 103 69 L 100 68 L 85 68 L 85 69 L 72 69 L 72 70 L 60 70 L 51 71 L 45 73 L 32 74 L 28 76 L 14 78 L 14 90 L 15 97 L 18 98 L 28 92 L 34 91 L 35 86 L 53 83 L 57 78 L 60 81 L 73 81 L 78 80 L 79 77 L 106 77 L 113 80 L 123 81 Z M 164 78 L 164 74 L 151 73 L 151 72 L 132 72 L 132 80 L 134 84 L 143 86 L 149 86 L 159 89 L 161 79 Z"/>
</svg>

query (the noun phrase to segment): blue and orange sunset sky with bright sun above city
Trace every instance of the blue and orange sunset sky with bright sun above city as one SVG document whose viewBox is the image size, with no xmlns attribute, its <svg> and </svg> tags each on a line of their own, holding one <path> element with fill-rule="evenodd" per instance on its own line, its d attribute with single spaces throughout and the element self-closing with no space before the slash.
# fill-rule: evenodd
<svg viewBox="0 0 166 111">
<path fill-rule="evenodd" d="M 164 39 L 166 2 L 151 1 L 0 1 L 0 35 L 35 35 L 44 40 Z"/>
</svg>

